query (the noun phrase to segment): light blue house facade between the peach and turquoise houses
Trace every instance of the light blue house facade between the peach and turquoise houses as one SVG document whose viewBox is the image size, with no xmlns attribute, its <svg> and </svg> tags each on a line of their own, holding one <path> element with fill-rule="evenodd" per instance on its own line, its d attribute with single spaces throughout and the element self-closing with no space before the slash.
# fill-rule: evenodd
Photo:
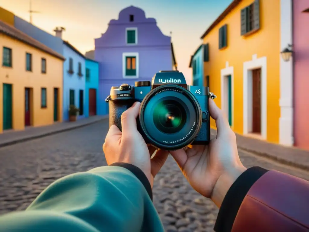
<svg viewBox="0 0 309 232">
<path fill-rule="evenodd" d="M 88 102 L 85 101 L 86 58 L 69 42 L 63 41 L 63 120 L 69 120 L 70 105 L 79 109 L 78 119 L 85 117 Z"/>
</svg>

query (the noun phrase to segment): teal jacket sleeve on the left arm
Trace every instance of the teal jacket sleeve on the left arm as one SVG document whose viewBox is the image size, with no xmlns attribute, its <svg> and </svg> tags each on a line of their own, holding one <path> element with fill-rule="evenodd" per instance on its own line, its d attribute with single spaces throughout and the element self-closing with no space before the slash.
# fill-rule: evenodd
<svg viewBox="0 0 309 232">
<path fill-rule="evenodd" d="M 0 231 L 164 231 L 150 184 L 142 183 L 146 176 L 138 177 L 143 173 L 134 167 L 104 166 L 63 177 L 25 211 L 1 216 Z"/>
</svg>

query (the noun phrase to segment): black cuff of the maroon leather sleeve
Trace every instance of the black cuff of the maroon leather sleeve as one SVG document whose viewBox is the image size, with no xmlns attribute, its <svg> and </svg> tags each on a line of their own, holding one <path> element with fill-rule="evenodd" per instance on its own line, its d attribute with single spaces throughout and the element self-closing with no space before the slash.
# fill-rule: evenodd
<svg viewBox="0 0 309 232">
<path fill-rule="evenodd" d="M 252 167 L 244 171 L 227 191 L 220 207 L 214 231 L 231 231 L 243 199 L 252 185 L 268 170 Z"/>
</svg>

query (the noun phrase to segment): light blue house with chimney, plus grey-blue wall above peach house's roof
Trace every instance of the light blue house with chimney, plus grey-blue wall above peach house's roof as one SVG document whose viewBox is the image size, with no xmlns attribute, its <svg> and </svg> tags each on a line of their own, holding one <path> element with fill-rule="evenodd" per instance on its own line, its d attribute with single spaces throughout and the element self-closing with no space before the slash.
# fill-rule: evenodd
<svg viewBox="0 0 309 232">
<path fill-rule="evenodd" d="M 56 28 L 56 36 L 37 28 L 27 21 L 15 16 L 15 28 L 36 39 L 66 58 L 63 64 L 63 121 L 69 119 L 69 107 L 74 104 L 80 109 L 79 118 L 87 117 L 85 110 L 88 102 L 85 100 L 85 60 L 86 57 L 69 42 L 62 40 L 64 28 Z"/>
</svg>

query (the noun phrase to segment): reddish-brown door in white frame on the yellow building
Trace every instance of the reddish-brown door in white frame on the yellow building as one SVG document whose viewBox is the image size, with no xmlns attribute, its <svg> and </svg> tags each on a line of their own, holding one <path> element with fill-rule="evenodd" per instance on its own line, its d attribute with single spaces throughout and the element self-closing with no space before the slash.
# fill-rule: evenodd
<svg viewBox="0 0 309 232">
<path fill-rule="evenodd" d="M 252 132 L 261 133 L 261 69 L 252 70 Z"/>
</svg>

